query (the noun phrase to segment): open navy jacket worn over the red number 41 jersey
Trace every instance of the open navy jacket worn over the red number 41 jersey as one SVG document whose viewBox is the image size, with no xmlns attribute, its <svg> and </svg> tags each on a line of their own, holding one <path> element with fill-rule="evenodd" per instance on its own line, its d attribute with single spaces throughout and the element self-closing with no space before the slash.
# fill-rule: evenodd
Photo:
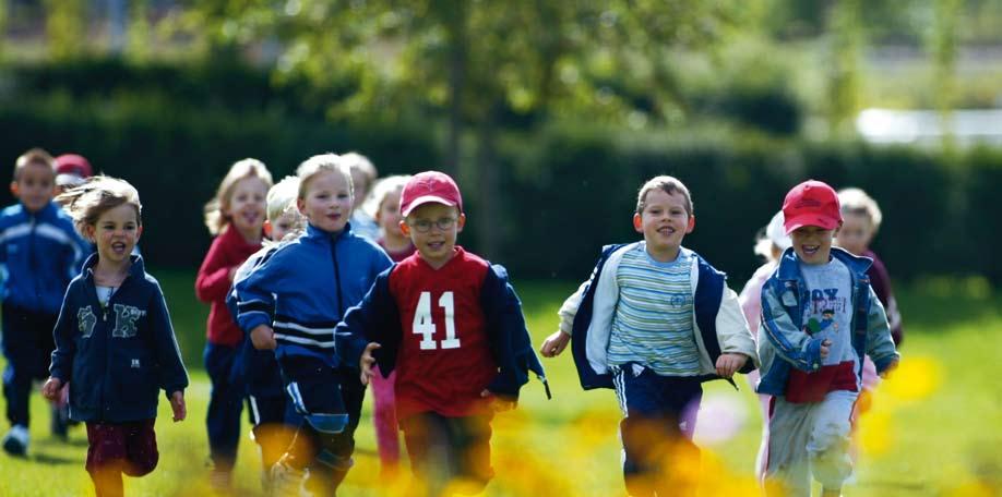
<svg viewBox="0 0 1002 497">
<path fill-rule="evenodd" d="M 374 355 L 383 377 L 389 377 L 396 368 L 404 334 L 396 299 L 390 291 L 390 274 L 394 267 L 379 275 L 365 299 L 348 310 L 335 332 L 337 355 L 356 369 L 366 346 L 378 342 L 381 347 Z M 491 265 L 481 288 L 480 307 L 484 310 L 490 351 L 498 364 L 498 376 L 487 389 L 517 399 L 518 390 L 528 383 L 528 372 L 532 371 L 542 381 L 549 399 L 546 373 L 533 349 L 525 316 L 522 315 L 522 302 L 508 281 L 508 270 L 501 265 Z"/>
</svg>

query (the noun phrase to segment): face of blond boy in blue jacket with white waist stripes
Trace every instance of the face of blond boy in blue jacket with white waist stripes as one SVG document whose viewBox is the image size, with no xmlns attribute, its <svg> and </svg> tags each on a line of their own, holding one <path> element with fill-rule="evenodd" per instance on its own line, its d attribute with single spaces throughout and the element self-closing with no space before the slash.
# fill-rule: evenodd
<svg viewBox="0 0 1002 497">
<path fill-rule="evenodd" d="M 338 171 L 317 173 L 296 201 L 299 211 L 313 225 L 331 233 L 345 229 L 351 216 L 351 191 L 348 179 Z"/>
</svg>

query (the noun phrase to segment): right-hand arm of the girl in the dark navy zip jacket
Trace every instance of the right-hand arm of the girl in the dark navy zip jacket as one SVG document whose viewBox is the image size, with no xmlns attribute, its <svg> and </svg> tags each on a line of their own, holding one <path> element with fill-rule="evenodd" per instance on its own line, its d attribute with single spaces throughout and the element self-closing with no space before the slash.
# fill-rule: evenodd
<svg viewBox="0 0 1002 497">
<path fill-rule="evenodd" d="M 148 312 L 153 344 L 156 347 L 154 352 L 157 361 L 159 387 L 164 389 L 167 399 L 170 400 L 170 404 L 175 409 L 175 421 L 180 421 L 178 420 L 176 399 L 177 395 L 181 395 L 180 407 L 183 410 L 183 392 L 188 388 L 188 372 L 181 361 L 181 349 L 178 347 L 177 337 L 174 335 L 174 326 L 170 324 L 170 313 L 167 310 L 167 302 L 164 300 L 164 292 L 158 283 L 156 283 L 155 289 Z M 181 419 L 183 419 L 183 413 L 181 413 Z"/>
</svg>

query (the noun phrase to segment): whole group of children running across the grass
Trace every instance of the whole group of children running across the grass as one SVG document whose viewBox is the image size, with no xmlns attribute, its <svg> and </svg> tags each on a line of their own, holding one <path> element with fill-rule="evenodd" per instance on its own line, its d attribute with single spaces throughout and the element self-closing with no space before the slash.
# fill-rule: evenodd
<svg viewBox="0 0 1002 497">
<path fill-rule="evenodd" d="M 44 396 L 69 404 L 68 416 L 53 413 L 53 432 L 85 423 L 97 495 L 122 495 L 122 474 L 157 464 L 158 391 L 175 421 L 186 417 L 188 375 L 163 291 L 138 255 L 138 192 L 106 175 L 81 181 L 86 165 L 53 199 L 60 161 L 85 159 L 19 157 L 20 202 L 0 215 L 12 425 L 2 446 L 27 450 L 32 381 L 47 378 Z M 333 495 L 371 384 L 383 471 L 396 473 L 403 432 L 408 494 L 475 494 L 494 474 L 494 413 L 515 407 L 530 373 L 549 397 L 506 271 L 456 245 L 466 226 L 456 183 L 426 171 L 370 192 L 375 178 L 363 156 L 324 154 L 272 185 L 262 162 L 244 159 L 206 205 L 216 238 L 195 292 L 212 306 L 214 486 L 229 486 L 246 401 L 265 490 Z M 633 214 L 643 241 L 603 248 L 540 347 L 552 357 L 570 346 L 584 389 L 615 388 L 631 495 L 695 490 L 692 472 L 672 462 L 699 456 L 702 383 L 733 384 L 739 372 L 763 399 L 764 488 L 810 495 L 813 476 L 824 495 L 840 493 L 855 420 L 899 359 L 899 314 L 869 251 L 880 222 L 860 190 L 796 185 L 756 245 L 766 264 L 739 296 L 682 246 L 695 227 L 685 185 L 644 183 Z"/>
</svg>

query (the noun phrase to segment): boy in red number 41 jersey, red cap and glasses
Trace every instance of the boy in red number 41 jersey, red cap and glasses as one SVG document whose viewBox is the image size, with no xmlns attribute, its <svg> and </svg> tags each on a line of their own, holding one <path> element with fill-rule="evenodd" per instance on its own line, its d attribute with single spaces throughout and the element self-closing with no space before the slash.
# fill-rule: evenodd
<svg viewBox="0 0 1002 497">
<path fill-rule="evenodd" d="M 511 409 L 532 369 L 522 306 L 501 266 L 456 246 L 466 216 L 449 175 L 415 175 L 401 193 L 401 228 L 417 253 L 381 274 L 337 325 L 337 354 L 396 373 L 396 411 L 411 470 L 431 495 L 458 483 L 479 492 L 493 476 L 490 422 Z"/>
</svg>

